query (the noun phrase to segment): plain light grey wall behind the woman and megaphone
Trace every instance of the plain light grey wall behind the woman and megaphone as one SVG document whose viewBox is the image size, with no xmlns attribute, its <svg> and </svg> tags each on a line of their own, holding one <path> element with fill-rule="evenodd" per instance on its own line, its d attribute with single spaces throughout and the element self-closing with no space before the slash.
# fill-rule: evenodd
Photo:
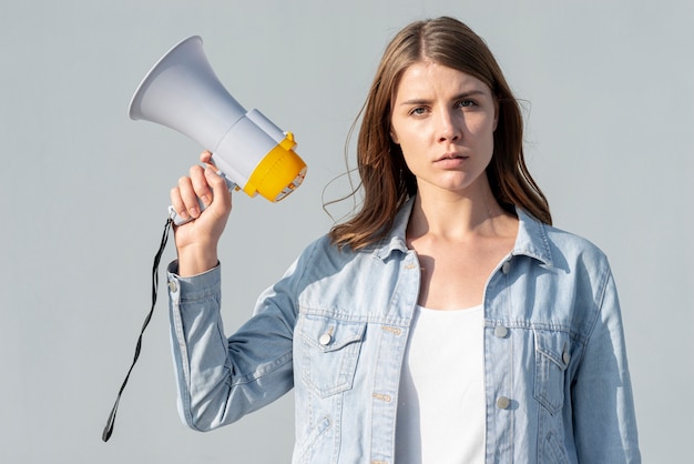
<svg viewBox="0 0 694 464">
<path fill-rule="evenodd" d="M 276 205 L 235 195 L 222 250 L 232 330 L 330 225 L 323 189 L 345 171 L 388 38 L 450 14 L 488 40 L 527 101 L 528 159 L 555 223 L 611 258 L 644 462 L 694 462 L 694 3 L 510 3 L 3 2 L 0 461 L 288 462 L 292 395 L 210 434 L 181 424 L 163 291 L 115 433 L 100 440 L 149 309 L 169 189 L 201 150 L 130 121 L 127 103 L 166 49 L 201 34 L 234 95 L 296 134 L 305 185 Z"/>
</svg>

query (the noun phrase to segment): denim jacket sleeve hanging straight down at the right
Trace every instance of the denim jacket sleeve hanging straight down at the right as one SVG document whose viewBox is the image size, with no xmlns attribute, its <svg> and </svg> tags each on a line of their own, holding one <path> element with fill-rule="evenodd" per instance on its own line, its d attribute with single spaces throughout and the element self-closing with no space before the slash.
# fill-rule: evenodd
<svg viewBox="0 0 694 464">
<path fill-rule="evenodd" d="M 580 463 L 641 463 L 616 288 L 606 270 L 592 331 L 572 387 Z"/>
</svg>

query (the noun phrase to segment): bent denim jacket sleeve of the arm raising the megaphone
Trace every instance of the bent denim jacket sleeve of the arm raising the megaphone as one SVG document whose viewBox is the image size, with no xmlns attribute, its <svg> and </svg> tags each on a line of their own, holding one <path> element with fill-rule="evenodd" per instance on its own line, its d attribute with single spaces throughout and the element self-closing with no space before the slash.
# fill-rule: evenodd
<svg viewBox="0 0 694 464">
<path fill-rule="evenodd" d="M 292 282 L 296 263 L 261 295 L 253 317 L 225 336 L 221 269 L 193 278 L 169 266 L 171 343 L 178 413 L 192 428 L 210 431 L 273 402 L 294 384 Z"/>
</svg>

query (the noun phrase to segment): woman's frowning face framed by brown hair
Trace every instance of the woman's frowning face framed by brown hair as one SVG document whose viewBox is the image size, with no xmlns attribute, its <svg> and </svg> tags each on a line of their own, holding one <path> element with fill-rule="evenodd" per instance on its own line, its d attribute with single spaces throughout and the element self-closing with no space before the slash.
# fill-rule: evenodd
<svg viewBox="0 0 694 464">
<path fill-rule="evenodd" d="M 489 189 L 484 170 L 496 129 L 497 102 L 479 79 L 429 61 L 412 64 L 402 74 L 390 137 L 400 145 L 421 193 Z"/>
</svg>

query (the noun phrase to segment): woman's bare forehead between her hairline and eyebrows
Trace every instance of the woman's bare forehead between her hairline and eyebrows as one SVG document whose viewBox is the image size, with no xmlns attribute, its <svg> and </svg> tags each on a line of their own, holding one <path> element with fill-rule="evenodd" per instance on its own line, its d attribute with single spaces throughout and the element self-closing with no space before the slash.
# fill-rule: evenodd
<svg viewBox="0 0 694 464">
<path fill-rule="evenodd" d="M 407 68 L 396 88 L 396 100 L 412 97 L 435 97 L 478 91 L 491 95 L 491 89 L 478 78 L 453 68 L 419 61 Z"/>
</svg>

